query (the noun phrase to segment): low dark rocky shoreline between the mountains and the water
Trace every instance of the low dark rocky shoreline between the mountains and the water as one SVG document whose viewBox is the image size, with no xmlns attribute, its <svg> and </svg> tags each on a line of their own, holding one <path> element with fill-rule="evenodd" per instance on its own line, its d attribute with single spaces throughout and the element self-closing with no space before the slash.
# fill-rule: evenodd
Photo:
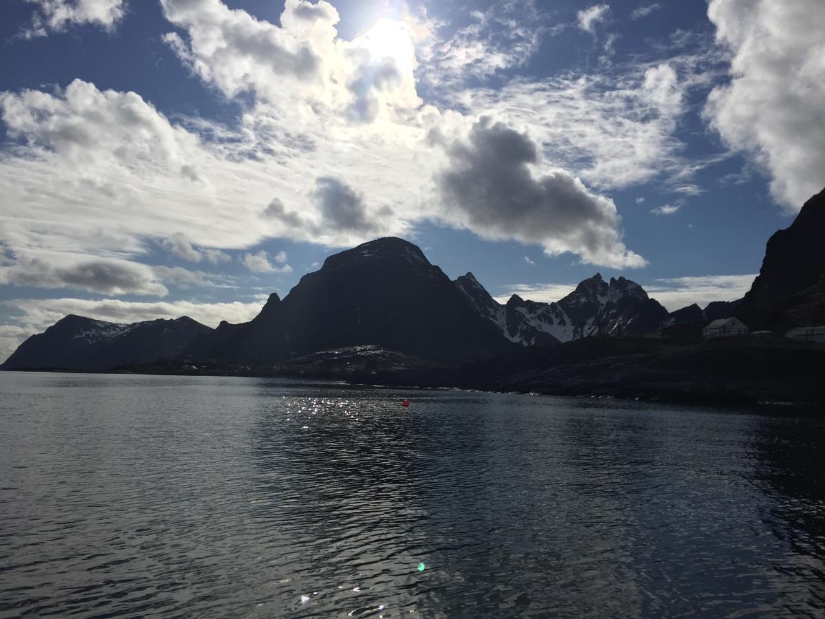
<svg viewBox="0 0 825 619">
<path fill-rule="evenodd" d="M 784 338 L 585 338 L 450 365 L 375 346 L 316 352 L 271 366 L 177 359 L 107 372 L 267 376 L 350 384 L 612 397 L 706 405 L 825 406 L 825 345 Z"/>
</svg>

